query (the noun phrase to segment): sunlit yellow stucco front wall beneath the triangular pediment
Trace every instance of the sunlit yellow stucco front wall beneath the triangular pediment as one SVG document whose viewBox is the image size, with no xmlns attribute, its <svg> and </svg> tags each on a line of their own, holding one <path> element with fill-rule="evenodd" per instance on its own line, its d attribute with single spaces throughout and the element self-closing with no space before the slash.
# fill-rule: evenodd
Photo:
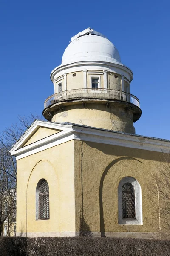
<svg viewBox="0 0 170 256">
<path fill-rule="evenodd" d="M 40 179 L 49 185 L 49 220 L 36 220 L 35 193 Z M 22 232 L 74 234 L 74 141 L 17 160 L 17 233 Z"/>
</svg>

